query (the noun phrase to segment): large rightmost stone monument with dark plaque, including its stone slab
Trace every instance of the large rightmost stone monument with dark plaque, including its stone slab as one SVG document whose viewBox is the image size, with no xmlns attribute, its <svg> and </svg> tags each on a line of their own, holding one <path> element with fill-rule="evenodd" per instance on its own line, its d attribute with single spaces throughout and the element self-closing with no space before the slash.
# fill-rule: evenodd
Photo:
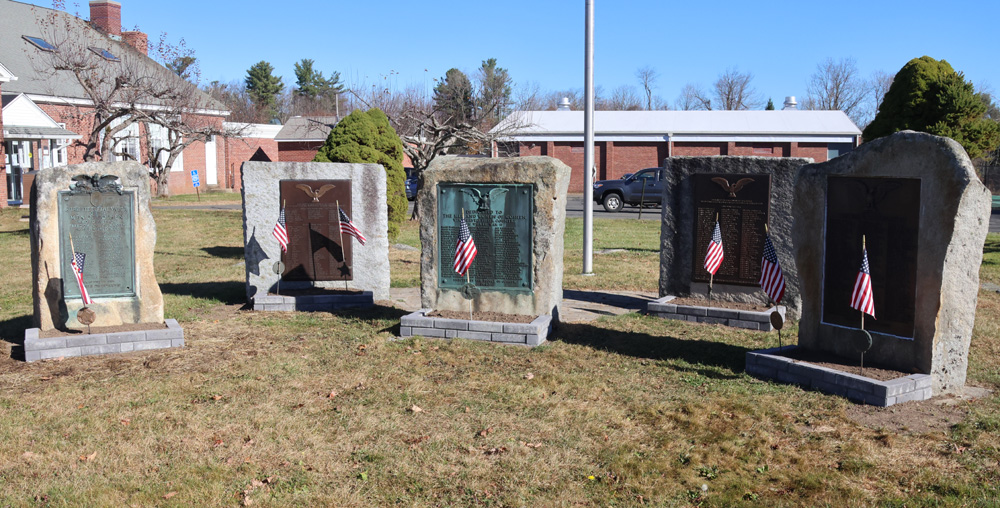
<svg viewBox="0 0 1000 508">
<path fill-rule="evenodd" d="M 802 281 L 799 348 L 858 358 L 859 365 L 866 351 L 865 365 L 912 374 L 888 386 L 851 380 L 824 387 L 805 371 L 785 380 L 877 405 L 962 388 L 990 193 L 961 145 L 904 131 L 805 166 L 792 213 Z M 863 321 L 864 331 L 861 312 L 850 306 L 862 237 L 875 316 Z M 748 372 L 768 377 L 766 370 L 748 355 Z"/>
</svg>

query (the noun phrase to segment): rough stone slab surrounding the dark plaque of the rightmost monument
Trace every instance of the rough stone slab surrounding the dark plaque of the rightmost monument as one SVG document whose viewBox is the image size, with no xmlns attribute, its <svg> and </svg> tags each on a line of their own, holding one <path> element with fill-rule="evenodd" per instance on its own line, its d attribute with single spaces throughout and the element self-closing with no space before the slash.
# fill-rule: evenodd
<svg viewBox="0 0 1000 508">
<path fill-rule="evenodd" d="M 885 159 L 891 158 L 892 164 Z M 901 131 L 844 157 L 804 166 L 793 205 L 795 257 L 806 283 L 799 343 L 847 354 L 822 323 L 823 241 L 827 176 L 919 178 L 917 294 L 912 340 L 872 332 L 866 358 L 930 374 L 934 393 L 965 384 L 978 300 L 979 266 L 989 228 L 990 195 L 961 145 L 950 138 Z M 820 203 L 820 206 L 816 206 Z M 878 309 L 876 309 L 876 313 Z M 907 363 L 902 359 L 911 358 Z"/>
</svg>

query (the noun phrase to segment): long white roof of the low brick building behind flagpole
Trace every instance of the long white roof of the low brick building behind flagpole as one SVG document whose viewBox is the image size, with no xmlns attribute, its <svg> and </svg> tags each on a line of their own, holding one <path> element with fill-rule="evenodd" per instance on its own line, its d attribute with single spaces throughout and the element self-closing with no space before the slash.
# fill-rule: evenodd
<svg viewBox="0 0 1000 508">
<path fill-rule="evenodd" d="M 517 111 L 493 132 L 516 140 L 583 136 L 583 111 Z M 860 136 L 843 111 L 595 111 L 596 136 Z"/>
</svg>

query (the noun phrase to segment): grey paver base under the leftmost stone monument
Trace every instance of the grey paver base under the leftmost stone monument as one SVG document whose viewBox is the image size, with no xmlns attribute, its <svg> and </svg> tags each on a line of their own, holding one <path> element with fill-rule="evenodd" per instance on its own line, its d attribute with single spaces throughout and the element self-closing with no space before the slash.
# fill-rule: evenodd
<svg viewBox="0 0 1000 508">
<path fill-rule="evenodd" d="M 24 360 L 35 362 L 66 356 L 107 355 L 147 349 L 184 347 L 184 330 L 176 319 L 164 321 L 166 328 L 130 332 L 38 337 L 38 328 L 24 331 Z"/>
</svg>

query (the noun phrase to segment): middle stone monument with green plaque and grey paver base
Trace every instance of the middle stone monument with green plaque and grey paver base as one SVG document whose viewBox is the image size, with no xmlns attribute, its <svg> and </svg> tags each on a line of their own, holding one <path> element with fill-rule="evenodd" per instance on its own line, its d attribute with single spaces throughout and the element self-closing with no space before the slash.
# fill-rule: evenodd
<svg viewBox="0 0 1000 508">
<path fill-rule="evenodd" d="M 461 337 L 538 345 L 559 319 L 569 167 L 550 157 L 438 157 L 423 171 L 421 309 L 402 336 Z M 453 267 L 464 219 L 477 255 L 467 276 Z M 428 316 L 499 313 L 503 323 Z"/>
</svg>

